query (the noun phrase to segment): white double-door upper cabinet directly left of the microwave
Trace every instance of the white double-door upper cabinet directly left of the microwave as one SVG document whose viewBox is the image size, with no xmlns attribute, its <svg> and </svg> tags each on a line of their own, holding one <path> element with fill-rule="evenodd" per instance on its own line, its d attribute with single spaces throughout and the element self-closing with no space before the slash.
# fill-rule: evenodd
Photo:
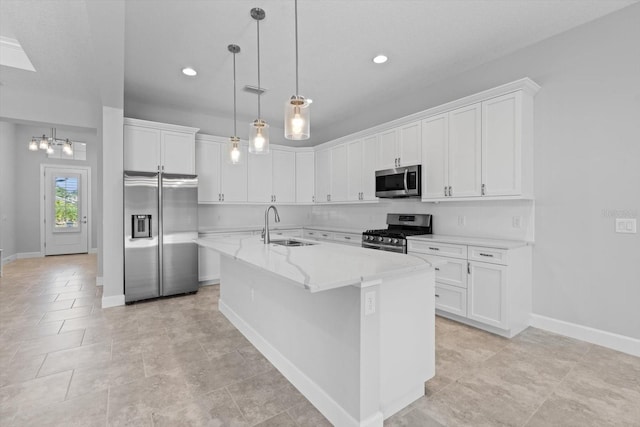
<svg viewBox="0 0 640 427">
<path fill-rule="evenodd" d="M 347 144 L 348 201 L 376 200 L 377 154 L 378 138 L 376 135 Z"/>
</svg>

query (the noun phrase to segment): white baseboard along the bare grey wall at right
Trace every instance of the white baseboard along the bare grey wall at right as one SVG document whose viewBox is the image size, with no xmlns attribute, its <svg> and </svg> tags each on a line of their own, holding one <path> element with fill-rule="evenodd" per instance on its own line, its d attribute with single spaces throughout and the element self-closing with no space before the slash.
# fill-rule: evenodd
<svg viewBox="0 0 640 427">
<path fill-rule="evenodd" d="M 614 334 L 576 323 L 565 322 L 564 320 L 553 319 L 539 314 L 531 315 L 531 326 L 640 357 L 640 340 L 636 338 Z"/>
</svg>

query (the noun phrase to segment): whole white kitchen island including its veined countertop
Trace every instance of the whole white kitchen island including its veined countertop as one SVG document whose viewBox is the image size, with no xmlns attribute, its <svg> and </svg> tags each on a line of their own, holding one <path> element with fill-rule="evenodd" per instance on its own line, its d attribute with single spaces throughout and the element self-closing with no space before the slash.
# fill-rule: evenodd
<svg viewBox="0 0 640 427">
<path fill-rule="evenodd" d="M 435 373 L 424 259 L 257 236 L 197 243 L 221 255 L 220 311 L 334 425 L 382 426 L 424 395 Z"/>
</svg>

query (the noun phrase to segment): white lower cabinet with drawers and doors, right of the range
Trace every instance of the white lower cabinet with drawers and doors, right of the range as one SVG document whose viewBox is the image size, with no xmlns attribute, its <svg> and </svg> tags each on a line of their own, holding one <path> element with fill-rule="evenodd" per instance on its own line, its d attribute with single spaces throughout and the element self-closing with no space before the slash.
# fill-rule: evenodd
<svg viewBox="0 0 640 427">
<path fill-rule="evenodd" d="M 493 248 L 410 238 L 408 252 L 446 261 L 436 267 L 439 315 L 509 338 L 529 326 L 531 246 Z"/>
</svg>

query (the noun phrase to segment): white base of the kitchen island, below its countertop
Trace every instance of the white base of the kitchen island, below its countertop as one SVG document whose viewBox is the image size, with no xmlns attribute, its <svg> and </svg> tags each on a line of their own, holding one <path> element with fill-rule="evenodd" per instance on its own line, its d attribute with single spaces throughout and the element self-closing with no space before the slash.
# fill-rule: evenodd
<svg viewBox="0 0 640 427">
<path fill-rule="evenodd" d="M 220 261 L 220 312 L 333 425 L 382 427 L 424 395 L 435 374 L 433 271 L 312 293 Z"/>
</svg>

